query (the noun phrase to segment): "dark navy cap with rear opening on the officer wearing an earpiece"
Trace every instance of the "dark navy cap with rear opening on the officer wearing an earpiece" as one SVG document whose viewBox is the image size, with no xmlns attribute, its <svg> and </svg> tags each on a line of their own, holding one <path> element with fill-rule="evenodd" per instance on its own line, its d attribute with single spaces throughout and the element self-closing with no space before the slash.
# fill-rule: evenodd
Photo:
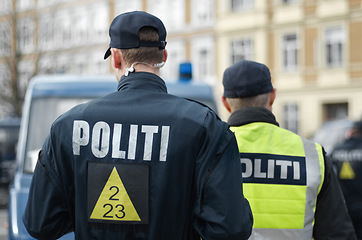
<svg viewBox="0 0 362 240">
<path fill-rule="evenodd" d="M 158 41 L 139 41 L 138 32 L 142 27 L 152 27 L 158 32 Z M 126 12 L 113 19 L 109 27 L 111 43 L 104 59 L 111 55 L 111 48 L 130 49 L 139 47 L 166 47 L 166 28 L 154 15 L 143 11 Z"/>
</svg>

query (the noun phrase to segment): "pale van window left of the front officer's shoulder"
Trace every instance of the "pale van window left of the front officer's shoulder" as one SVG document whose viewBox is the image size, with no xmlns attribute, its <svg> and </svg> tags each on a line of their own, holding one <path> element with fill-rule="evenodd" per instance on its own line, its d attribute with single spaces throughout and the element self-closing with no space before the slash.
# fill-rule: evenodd
<svg viewBox="0 0 362 240">
<path fill-rule="evenodd" d="M 25 148 L 24 172 L 33 173 L 38 153 L 45 138 L 49 135 L 51 124 L 58 116 L 73 106 L 89 101 L 87 98 L 35 98 L 29 115 L 28 139 Z"/>
</svg>

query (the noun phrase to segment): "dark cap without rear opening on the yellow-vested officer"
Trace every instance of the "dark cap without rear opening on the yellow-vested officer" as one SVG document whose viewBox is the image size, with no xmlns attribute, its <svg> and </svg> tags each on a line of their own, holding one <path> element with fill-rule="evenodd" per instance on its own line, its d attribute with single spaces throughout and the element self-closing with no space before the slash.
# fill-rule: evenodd
<svg viewBox="0 0 362 240">
<path fill-rule="evenodd" d="M 227 68 L 223 76 L 224 97 L 252 97 L 273 91 L 269 68 L 264 64 L 241 60 Z"/>
</svg>

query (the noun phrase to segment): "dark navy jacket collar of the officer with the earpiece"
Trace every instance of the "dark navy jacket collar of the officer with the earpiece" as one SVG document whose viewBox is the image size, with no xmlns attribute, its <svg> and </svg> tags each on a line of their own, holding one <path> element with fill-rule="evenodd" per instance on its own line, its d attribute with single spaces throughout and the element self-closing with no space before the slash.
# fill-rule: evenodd
<svg viewBox="0 0 362 240">
<path fill-rule="evenodd" d="M 167 93 L 165 81 L 156 74 L 148 72 L 134 72 L 128 76 L 123 75 L 119 80 L 117 90 L 126 89 L 157 89 Z"/>
</svg>

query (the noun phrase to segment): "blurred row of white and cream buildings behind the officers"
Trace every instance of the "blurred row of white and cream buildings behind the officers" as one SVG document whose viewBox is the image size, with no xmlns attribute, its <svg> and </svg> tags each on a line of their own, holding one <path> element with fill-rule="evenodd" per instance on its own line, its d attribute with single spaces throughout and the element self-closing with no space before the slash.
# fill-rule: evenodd
<svg viewBox="0 0 362 240">
<path fill-rule="evenodd" d="M 311 137 L 326 121 L 362 114 L 362 0 L 1 0 L 0 118 L 20 117 L 39 74 L 111 73 L 103 55 L 119 13 L 144 10 L 168 30 L 165 81 L 191 62 L 213 86 L 241 59 L 266 64 L 284 128 Z"/>
</svg>

